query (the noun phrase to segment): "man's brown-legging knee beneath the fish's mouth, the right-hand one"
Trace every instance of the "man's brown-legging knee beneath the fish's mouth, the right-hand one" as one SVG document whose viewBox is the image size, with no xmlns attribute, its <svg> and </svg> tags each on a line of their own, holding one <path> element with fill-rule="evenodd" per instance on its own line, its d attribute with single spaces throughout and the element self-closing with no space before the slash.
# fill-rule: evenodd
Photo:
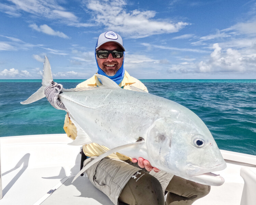
<svg viewBox="0 0 256 205">
<path fill-rule="evenodd" d="M 166 205 L 191 205 L 210 192 L 210 186 L 174 176 L 166 188 Z"/>
</svg>

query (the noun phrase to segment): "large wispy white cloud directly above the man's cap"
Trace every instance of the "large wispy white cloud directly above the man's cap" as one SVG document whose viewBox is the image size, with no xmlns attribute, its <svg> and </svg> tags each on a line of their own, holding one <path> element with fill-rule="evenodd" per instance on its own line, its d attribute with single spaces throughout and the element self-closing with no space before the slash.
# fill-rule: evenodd
<svg viewBox="0 0 256 205">
<path fill-rule="evenodd" d="M 106 29 L 113 29 L 123 36 L 142 38 L 153 34 L 178 32 L 188 23 L 172 23 L 170 20 L 154 20 L 155 11 L 126 11 L 126 1 L 87 1 L 87 8 L 93 11 L 93 20 Z"/>
</svg>

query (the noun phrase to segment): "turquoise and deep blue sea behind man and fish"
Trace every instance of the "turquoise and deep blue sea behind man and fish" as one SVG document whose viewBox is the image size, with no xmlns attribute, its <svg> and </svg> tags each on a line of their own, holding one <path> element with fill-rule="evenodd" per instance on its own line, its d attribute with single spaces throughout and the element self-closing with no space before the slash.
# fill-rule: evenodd
<svg viewBox="0 0 256 205">
<path fill-rule="evenodd" d="M 74 88 L 84 80 L 55 80 Z M 256 80 L 141 80 L 149 92 L 196 113 L 220 149 L 256 155 Z M 20 104 L 41 80 L 0 80 L 0 137 L 65 133 L 65 112 L 46 98 Z"/>
</svg>

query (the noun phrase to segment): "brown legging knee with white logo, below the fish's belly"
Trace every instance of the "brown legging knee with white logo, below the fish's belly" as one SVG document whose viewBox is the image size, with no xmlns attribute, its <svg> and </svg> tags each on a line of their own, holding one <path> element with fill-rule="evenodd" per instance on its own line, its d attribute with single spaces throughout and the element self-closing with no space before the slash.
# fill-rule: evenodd
<svg viewBox="0 0 256 205">
<path fill-rule="evenodd" d="M 164 205 L 160 182 L 152 175 L 139 171 L 127 182 L 118 201 L 129 205 Z"/>
</svg>

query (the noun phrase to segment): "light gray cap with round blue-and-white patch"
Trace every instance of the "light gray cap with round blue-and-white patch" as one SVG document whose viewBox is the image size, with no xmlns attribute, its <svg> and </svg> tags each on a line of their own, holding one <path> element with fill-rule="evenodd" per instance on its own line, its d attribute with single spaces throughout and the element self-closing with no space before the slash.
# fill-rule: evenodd
<svg viewBox="0 0 256 205">
<path fill-rule="evenodd" d="M 115 42 L 118 45 L 120 45 L 123 48 L 123 50 L 125 51 L 125 48 L 123 46 L 122 37 L 119 34 L 115 33 L 114 31 L 107 31 L 107 32 L 100 34 L 98 41 L 96 43 L 95 49 L 99 48 L 102 44 L 104 44 L 106 42 Z"/>
</svg>

